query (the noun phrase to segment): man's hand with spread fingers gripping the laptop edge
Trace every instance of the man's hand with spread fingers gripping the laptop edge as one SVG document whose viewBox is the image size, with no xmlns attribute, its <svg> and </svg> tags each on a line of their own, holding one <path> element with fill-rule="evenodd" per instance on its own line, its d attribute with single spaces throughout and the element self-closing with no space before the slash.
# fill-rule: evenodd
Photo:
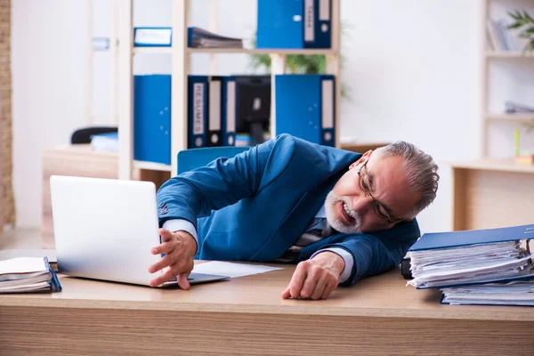
<svg viewBox="0 0 534 356">
<path fill-rule="evenodd" d="M 159 229 L 159 236 L 163 243 L 151 250 L 152 255 L 166 254 L 157 263 L 149 267 L 149 272 L 154 273 L 164 270 L 165 273 L 150 280 L 150 287 L 157 287 L 165 282 L 178 277 L 178 285 L 182 289 L 189 289 L 190 284 L 187 278 L 193 271 L 193 259 L 197 253 L 197 241 L 189 232 L 171 232 Z"/>
</svg>

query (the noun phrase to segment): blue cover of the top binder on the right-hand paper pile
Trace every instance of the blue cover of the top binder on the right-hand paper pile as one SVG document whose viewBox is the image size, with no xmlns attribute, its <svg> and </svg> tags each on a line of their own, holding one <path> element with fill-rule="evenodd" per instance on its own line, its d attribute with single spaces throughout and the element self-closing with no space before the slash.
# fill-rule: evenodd
<svg viewBox="0 0 534 356">
<path fill-rule="evenodd" d="M 409 251 L 534 239 L 534 224 L 498 229 L 425 233 Z"/>
</svg>

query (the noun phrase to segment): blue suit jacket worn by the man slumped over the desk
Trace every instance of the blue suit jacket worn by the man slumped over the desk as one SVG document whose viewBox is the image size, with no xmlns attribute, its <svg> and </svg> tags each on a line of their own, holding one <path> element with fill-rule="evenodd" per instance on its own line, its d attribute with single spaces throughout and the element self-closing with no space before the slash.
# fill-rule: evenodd
<svg viewBox="0 0 534 356">
<path fill-rule="evenodd" d="M 195 258 L 272 261 L 290 247 L 360 153 L 305 142 L 288 134 L 235 158 L 175 176 L 158 190 L 159 223 L 186 219 L 198 230 Z M 298 261 L 325 247 L 352 254 L 344 284 L 391 270 L 420 232 L 417 221 L 388 231 L 337 233 L 303 248 Z"/>
</svg>

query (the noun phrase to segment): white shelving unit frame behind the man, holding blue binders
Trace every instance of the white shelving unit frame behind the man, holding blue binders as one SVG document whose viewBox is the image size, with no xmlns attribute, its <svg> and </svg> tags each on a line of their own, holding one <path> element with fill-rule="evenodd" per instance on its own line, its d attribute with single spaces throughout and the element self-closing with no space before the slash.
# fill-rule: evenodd
<svg viewBox="0 0 534 356">
<path fill-rule="evenodd" d="M 210 0 L 206 16 L 209 17 L 209 30 L 217 32 L 217 12 L 215 4 L 217 1 Z M 252 1 L 252 0 L 243 0 Z M 282 50 L 282 49 L 199 49 L 188 48 L 187 28 L 189 23 L 190 0 L 174 0 L 172 4 L 173 12 L 173 44 L 171 47 L 134 47 L 133 43 L 133 14 L 134 1 L 121 0 L 116 3 L 117 10 L 117 38 L 118 38 L 118 58 L 117 58 L 117 85 L 120 88 L 117 94 L 117 115 L 119 127 L 119 150 L 118 150 L 118 177 L 119 179 L 132 179 L 134 168 L 142 168 L 156 171 L 170 172 L 172 175 L 177 172 L 176 157 L 179 151 L 187 150 L 187 76 L 190 73 L 190 55 L 193 53 L 209 53 L 210 73 L 216 75 L 217 56 L 224 53 L 263 53 L 271 55 L 271 76 L 282 74 L 286 68 L 287 54 L 325 54 L 327 57 L 327 72 L 336 76 L 336 147 L 340 147 L 340 99 L 341 83 L 339 80 L 341 66 L 339 57 L 340 48 L 340 0 L 332 1 L 331 33 L 332 48 L 325 50 L 303 49 L 303 50 Z M 151 162 L 134 161 L 133 155 L 133 61 L 137 53 L 166 53 L 173 56 L 171 72 L 171 162 L 169 165 L 154 164 Z M 274 79 L 274 77 L 273 77 Z M 271 137 L 276 135 L 274 119 L 274 80 L 271 80 Z"/>
</svg>

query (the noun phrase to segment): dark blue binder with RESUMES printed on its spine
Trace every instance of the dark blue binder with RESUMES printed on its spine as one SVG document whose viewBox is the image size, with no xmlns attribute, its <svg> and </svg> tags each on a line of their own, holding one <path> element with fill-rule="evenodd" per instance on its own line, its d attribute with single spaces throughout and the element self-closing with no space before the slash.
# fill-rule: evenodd
<svg viewBox="0 0 534 356">
<path fill-rule="evenodd" d="M 207 146 L 208 77 L 188 76 L 188 149 Z"/>
</svg>

